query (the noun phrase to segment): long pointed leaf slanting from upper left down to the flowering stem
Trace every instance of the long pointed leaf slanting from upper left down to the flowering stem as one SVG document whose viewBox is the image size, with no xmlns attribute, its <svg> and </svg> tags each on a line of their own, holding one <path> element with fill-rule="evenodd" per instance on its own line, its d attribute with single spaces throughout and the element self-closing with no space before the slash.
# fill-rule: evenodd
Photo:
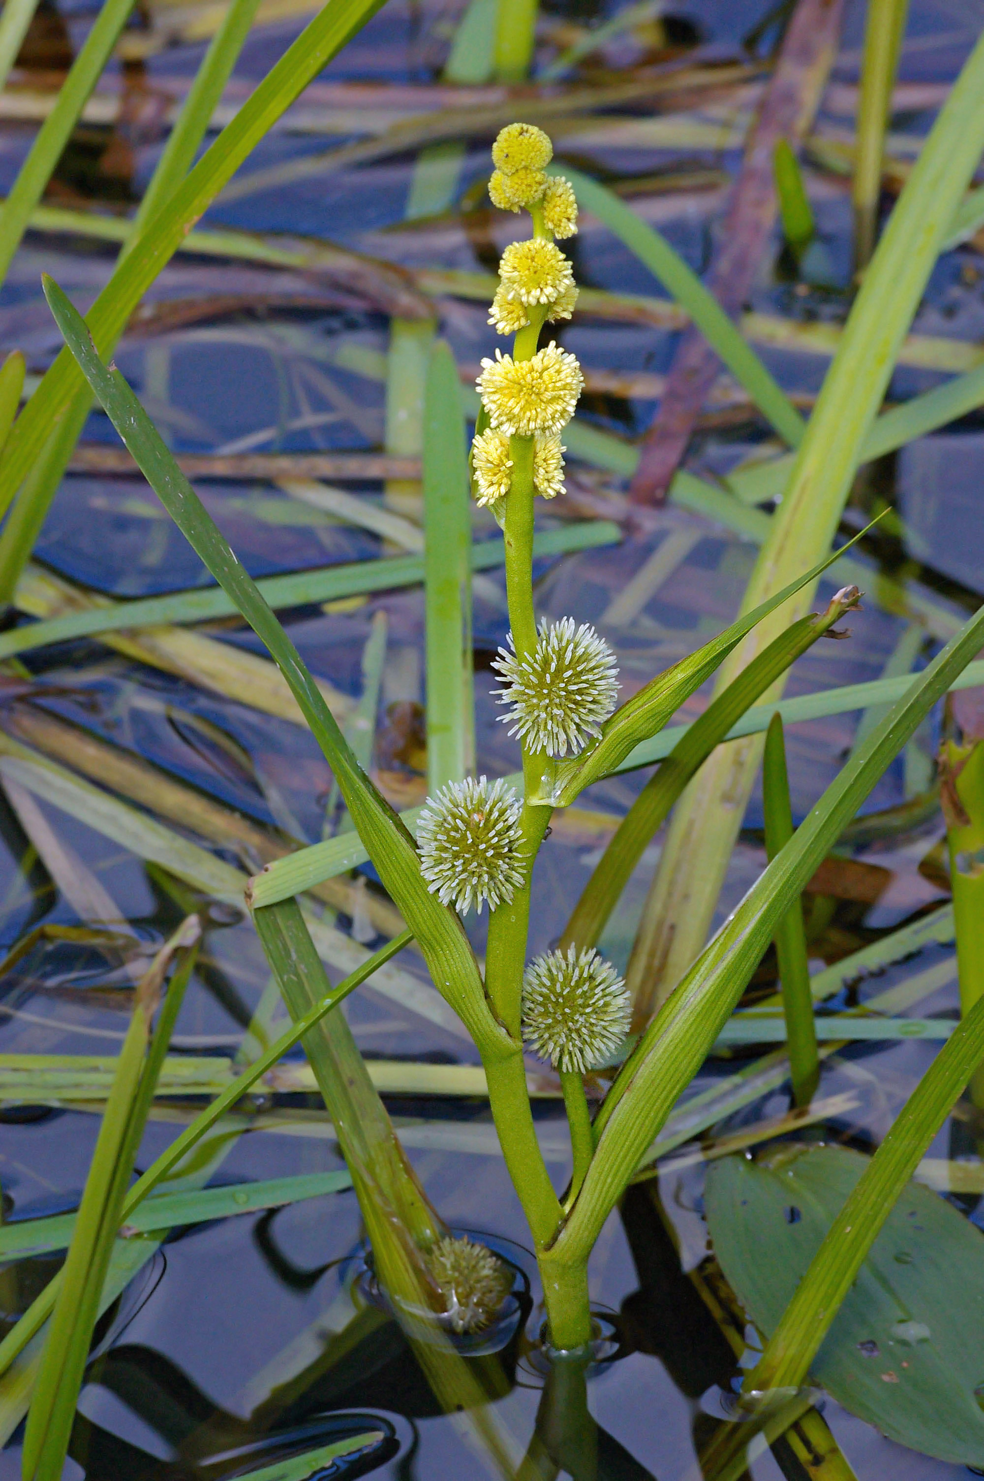
<svg viewBox="0 0 984 1481">
<path fill-rule="evenodd" d="M 457 915 L 431 895 L 413 840 L 346 745 L 297 650 L 256 589 L 172 453 L 117 370 L 95 351 L 84 321 L 50 278 L 44 292 L 73 355 L 126 441 L 151 487 L 216 581 L 278 663 L 312 735 L 326 754 L 352 820 L 383 884 L 400 905 L 428 961 L 434 983 L 468 1026 L 482 1053 L 503 1054 L 510 1041 L 493 1019 L 475 954 Z"/>
</svg>

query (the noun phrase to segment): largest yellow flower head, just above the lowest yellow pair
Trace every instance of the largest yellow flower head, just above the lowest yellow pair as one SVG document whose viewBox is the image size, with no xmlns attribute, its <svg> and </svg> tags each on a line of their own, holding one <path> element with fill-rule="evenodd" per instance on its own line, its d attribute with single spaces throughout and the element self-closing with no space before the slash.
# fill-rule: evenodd
<svg viewBox="0 0 984 1481">
<path fill-rule="evenodd" d="M 559 432 L 570 422 L 584 378 L 576 355 L 550 341 L 531 360 L 513 360 L 496 351 L 482 360 L 478 390 L 493 427 L 519 437 Z"/>
</svg>

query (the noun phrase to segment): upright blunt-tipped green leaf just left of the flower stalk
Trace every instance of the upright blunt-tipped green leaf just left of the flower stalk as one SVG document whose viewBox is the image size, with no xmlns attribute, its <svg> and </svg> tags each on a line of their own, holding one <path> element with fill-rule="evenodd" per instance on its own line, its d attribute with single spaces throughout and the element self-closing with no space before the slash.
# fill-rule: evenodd
<svg viewBox="0 0 984 1481">
<path fill-rule="evenodd" d="M 472 677 L 472 499 L 454 355 L 431 351 L 423 409 L 428 789 L 475 769 Z"/>
</svg>

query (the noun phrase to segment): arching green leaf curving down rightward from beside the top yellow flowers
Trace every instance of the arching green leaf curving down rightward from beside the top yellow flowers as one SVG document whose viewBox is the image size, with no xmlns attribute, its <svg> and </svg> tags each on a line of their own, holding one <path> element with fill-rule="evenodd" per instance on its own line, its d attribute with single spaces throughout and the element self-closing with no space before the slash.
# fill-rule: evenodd
<svg viewBox="0 0 984 1481">
<path fill-rule="evenodd" d="M 605 185 L 599 185 L 568 164 L 552 169 L 555 175 L 564 175 L 571 182 L 579 204 L 598 216 L 687 310 L 762 415 L 790 447 L 796 447 L 803 435 L 802 416 L 692 268 L 658 231 L 639 221 L 635 212 Z"/>
</svg>

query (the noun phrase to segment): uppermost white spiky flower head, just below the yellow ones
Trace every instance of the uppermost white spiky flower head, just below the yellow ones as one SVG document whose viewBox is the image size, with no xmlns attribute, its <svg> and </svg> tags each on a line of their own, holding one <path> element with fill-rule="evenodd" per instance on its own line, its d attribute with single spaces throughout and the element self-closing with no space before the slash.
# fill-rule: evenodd
<svg viewBox="0 0 984 1481">
<path fill-rule="evenodd" d="M 534 751 L 579 755 L 616 708 L 616 655 L 589 622 L 573 618 L 540 624 L 531 655 L 519 659 L 512 632 L 499 649 L 493 668 L 502 674 L 499 703 L 509 709 L 502 720 Z"/>
</svg>

